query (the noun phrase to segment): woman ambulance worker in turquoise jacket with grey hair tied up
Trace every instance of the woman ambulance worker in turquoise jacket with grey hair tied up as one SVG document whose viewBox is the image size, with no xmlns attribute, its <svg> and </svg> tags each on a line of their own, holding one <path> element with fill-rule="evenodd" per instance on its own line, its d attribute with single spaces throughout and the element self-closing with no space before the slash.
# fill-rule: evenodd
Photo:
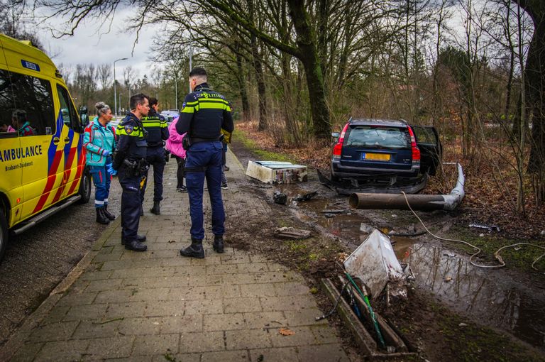
<svg viewBox="0 0 545 362">
<path fill-rule="evenodd" d="M 91 172 L 95 187 L 94 207 L 97 209 L 97 222 L 108 224 L 116 219 L 108 211 L 110 193 L 112 153 L 116 149 L 116 133 L 109 123 L 114 116 L 110 106 L 99 102 L 95 104 L 97 117 L 85 128 L 83 146 L 87 150 L 87 167 Z"/>
</svg>

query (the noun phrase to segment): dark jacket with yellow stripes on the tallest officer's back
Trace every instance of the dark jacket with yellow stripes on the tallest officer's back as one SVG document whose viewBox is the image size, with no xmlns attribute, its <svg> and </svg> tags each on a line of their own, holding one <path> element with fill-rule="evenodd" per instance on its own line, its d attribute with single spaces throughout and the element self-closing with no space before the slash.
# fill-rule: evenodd
<svg viewBox="0 0 545 362">
<path fill-rule="evenodd" d="M 192 143 L 219 140 L 221 128 L 233 132 L 231 107 L 225 97 L 211 90 L 207 83 L 195 87 L 187 94 L 182 114 L 176 123 L 176 131 L 187 133 Z"/>
</svg>

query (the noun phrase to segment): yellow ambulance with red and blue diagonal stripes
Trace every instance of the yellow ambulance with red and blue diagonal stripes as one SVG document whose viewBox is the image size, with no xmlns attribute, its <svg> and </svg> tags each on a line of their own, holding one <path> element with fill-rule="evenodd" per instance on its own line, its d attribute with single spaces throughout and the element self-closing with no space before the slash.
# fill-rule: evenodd
<svg viewBox="0 0 545 362">
<path fill-rule="evenodd" d="M 0 260 L 10 234 L 89 201 L 83 130 L 50 58 L 0 34 Z"/>
</svg>

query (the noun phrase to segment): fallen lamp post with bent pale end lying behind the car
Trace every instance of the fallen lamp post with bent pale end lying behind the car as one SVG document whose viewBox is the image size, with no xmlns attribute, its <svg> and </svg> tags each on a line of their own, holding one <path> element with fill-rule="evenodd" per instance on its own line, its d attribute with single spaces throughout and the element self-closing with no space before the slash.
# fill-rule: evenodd
<svg viewBox="0 0 545 362">
<path fill-rule="evenodd" d="M 355 209 L 399 209 L 408 210 L 407 201 L 414 210 L 434 211 L 446 210 L 453 211 L 462 202 L 464 192 L 463 184 L 466 177 L 463 175 L 462 166 L 458 166 L 458 180 L 450 194 L 370 194 L 355 193 L 351 194 L 348 202 Z M 405 199 L 407 197 L 407 200 Z"/>
</svg>

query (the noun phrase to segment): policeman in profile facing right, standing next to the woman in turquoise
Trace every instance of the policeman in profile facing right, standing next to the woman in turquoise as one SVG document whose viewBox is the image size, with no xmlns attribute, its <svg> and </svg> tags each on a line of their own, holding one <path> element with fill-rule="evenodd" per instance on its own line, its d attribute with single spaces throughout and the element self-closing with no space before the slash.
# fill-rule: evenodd
<svg viewBox="0 0 545 362">
<path fill-rule="evenodd" d="M 145 161 L 148 143 L 142 125 L 142 117 L 150 111 L 148 97 L 139 93 L 131 97 L 131 111 L 117 127 L 119 137 L 117 152 L 112 169 L 118 173 L 121 195 L 121 244 L 133 251 L 145 251 L 145 236 L 138 235 L 140 221 L 141 180 L 147 168 Z"/>
</svg>

